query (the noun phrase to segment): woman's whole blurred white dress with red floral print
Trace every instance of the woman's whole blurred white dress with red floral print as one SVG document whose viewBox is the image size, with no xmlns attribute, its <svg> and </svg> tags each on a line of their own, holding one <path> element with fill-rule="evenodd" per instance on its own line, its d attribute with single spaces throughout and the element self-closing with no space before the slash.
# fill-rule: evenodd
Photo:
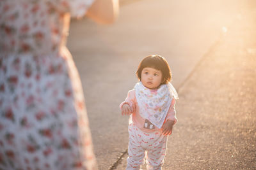
<svg viewBox="0 0 256 170">
<path fill-rule="evenodd" d="M 0 169 L 97 169 L 65 47 L 93 0 L 0 1 Z"/>
</svg>

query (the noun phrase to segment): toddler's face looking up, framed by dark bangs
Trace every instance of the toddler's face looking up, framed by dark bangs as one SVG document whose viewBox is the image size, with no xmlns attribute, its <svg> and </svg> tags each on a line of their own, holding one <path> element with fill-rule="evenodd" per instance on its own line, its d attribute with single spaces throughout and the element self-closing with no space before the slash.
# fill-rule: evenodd
<svg viewBox="0 0 256 170">
<path fill-rule="evenodd" d="M 141 82 L 148 89 L 157 89 L 162 82 L 162 72 L 152 67 L 145 67 L 141 71 Z"/>
</svg>

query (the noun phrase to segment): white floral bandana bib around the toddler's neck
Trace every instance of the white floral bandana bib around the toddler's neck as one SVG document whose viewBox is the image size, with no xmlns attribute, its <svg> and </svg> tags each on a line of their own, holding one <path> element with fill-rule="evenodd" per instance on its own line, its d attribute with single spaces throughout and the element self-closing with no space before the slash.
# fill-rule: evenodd
<svg viewBox="0 0 256 170">
<path fill-rule="evenodd" d="M 157 90 L 150 90 L 141 81 L 134 86 L 136 100 L 140 108 L 140 115 L 149 120 L 157 128 L 161 128 L 173 97 L 178 94 L 171 83 L 161 85 Z"/>
</svg>

